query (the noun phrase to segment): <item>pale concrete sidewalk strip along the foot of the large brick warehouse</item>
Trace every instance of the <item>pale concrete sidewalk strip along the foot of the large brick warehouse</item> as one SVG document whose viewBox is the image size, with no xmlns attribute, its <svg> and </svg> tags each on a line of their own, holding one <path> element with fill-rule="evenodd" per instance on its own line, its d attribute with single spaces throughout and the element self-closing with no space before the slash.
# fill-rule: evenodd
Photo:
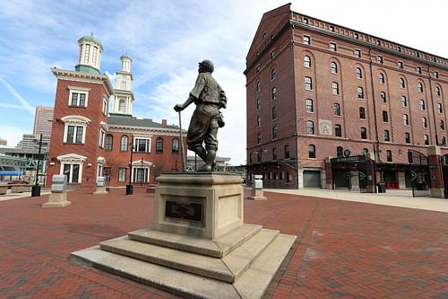
<svg viewBox="0 0 448 299">
<path fill-rule="evenodd" d="M 344 189 L 264 189 L 264 191 L 448 213 L 448 198 L 413 198 L 410 189 L 388 189 L 386 193 L 359 193 Z"/>
</svg>

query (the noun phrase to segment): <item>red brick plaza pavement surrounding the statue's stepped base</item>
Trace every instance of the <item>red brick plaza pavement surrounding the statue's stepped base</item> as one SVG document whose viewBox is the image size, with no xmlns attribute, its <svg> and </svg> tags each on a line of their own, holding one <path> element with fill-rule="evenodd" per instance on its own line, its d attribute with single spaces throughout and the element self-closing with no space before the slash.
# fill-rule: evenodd
<svg viewBox="0 0 448 299">
<path fill-rule="evenodd" d="M 67 259 L 152 224 L 144 189 L 92 192 L 69 192 L 65 208 L 0 201 L 0 298 L 175 298 Z M 298 236 L 266 297 L 448 298 L 447 213 L 264 194 L 245 200 L 245 222 Z"/>
</svg>

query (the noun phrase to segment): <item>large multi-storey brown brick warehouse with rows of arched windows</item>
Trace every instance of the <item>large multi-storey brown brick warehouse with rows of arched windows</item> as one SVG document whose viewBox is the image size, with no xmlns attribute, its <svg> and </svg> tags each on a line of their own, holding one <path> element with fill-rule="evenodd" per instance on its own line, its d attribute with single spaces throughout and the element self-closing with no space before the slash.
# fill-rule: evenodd
<svg viewBox="0 0 448 299">
<path fill-rule="evenodd" d="M 409 156 L 428 145 L 448 154 L 444 57 L 286 4 L 263 14 L 245 75 L 247 174 L 266 187 L 347 187 L 367 161 L 375 171 L 360 185 L 366 174 L 370 185 L 408 188 Z"/>
</svg>

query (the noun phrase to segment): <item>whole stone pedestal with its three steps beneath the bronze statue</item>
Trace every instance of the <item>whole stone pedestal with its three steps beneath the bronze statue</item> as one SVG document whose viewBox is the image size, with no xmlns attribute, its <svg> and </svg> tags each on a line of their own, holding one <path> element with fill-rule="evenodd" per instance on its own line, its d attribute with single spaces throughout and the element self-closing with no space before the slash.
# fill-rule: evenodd
<svg viewBox="0 0 448 299">
<path fill-rule="evenodd" d="M 168 173 L 154 227 L 72 252 L 71 259 L 188 298 L 261 298 L 295 235 L 244 224 L 243 180 Z"/>
</svg>

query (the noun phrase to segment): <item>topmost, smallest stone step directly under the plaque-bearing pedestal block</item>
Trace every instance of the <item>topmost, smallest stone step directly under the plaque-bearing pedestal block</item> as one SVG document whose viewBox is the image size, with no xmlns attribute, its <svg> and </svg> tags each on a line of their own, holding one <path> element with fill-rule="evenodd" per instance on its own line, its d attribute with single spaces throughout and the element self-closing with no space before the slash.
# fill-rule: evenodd
<svg viewBox="0 0 448 299">
<path fill-rule="evenodd" d="M 262 229 L 262 225 L 243 224 L 234 231 L 227 233 L 215 240 L 200 239 L 177 233 L 165 233 L 152 228 L 144 228 L 128 233 L 130 239 L 147 242 L 180 251 L 190 251 L 222 258 L 228 252 L 233 251 L 240 244 L 252 238 Z"/>
</svg>

